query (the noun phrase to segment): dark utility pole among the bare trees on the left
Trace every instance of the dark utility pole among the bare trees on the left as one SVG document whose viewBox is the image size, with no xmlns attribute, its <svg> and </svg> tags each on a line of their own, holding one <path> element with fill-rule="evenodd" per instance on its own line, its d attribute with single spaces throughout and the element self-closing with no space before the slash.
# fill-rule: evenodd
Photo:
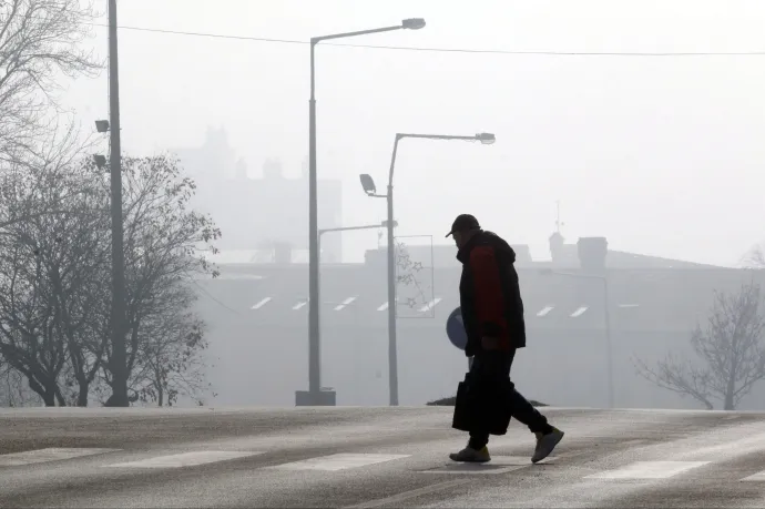
<svg viewBox="0 0 765 509">
<path fill-rule="evenodd" d="M 116 45 L 116 0 L 109 0 L 109 120 L 112 176 L 112 396 L 106 406 L 126 407 L 125 255 L 122 224 L 122 149 L 120 145 L 120 75 Z"/>
</svg>

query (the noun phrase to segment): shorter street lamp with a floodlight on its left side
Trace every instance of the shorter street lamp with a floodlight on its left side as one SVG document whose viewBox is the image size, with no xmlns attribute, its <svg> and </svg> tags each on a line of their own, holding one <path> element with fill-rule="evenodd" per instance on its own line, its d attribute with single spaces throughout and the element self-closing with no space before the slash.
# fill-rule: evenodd
<svg viewBox="0 0 765 509">
<path fill-rule="evenodd" d="M 384 197 L 388 202 L 388 385 L 390 393 L 390 406 L 398 406 L 398 347 L 396 345 L 396 269 L 395 269 L 395 248 L 394 248 L 394 170 L 396 167 L 396 154 L 398 142 L 405 138 L 418 138 L 425 140 L 462 140 L 479 141 L 490 145 L 497 141 L 491 133 L 479 133 L 472 136 L 455 136 L 447 134 L 407 134 L 397 133 L 394 142 L 394 153 L 390 157 L 390 170 L 388 171 L 388 193 L 377 194 L 375 181 L 366 173 L 360 175 L 361 186 L 367 195 L 373 197 Z"/>
</svg>

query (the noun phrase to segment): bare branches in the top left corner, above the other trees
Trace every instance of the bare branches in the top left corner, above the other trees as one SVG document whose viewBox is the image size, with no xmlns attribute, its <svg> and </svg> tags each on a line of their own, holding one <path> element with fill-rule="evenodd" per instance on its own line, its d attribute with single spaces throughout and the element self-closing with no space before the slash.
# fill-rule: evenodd
<svg viewBox="0 0 765 509">
<path fill-rule="evenodd" d="M 0 2 L 0 157 L 13 157 L 50 130 L 61 74 L 94 75 L 101 69 L 80 49 L 94 16 L 81 0 Z"/>
</svg>

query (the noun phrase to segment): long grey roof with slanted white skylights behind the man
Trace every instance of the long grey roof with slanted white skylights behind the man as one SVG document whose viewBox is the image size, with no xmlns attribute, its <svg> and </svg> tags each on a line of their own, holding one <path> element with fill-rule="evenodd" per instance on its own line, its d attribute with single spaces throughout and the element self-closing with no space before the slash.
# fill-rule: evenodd
<svg viewBox="0 0 765 509">
<path fill-rule="evenodd" d="M 568 269 L 544 273 L 545 264 L 519 267 L 527 327 L 602 329 L 603 279 L 577 277 Z M 549 269 L 549 268 L 548 268 Z M 221 277 L 198 282 L 208 306 L 246 315 L 255 323 L 307 326 L 307 265 L 246 264 L 221 267 Z M 573 275 L 571 275 L 573 274 Z M 735 292 L 761 272 L 734 268 L 609 269 L 612 328 L 621 330 L 691 330 L 705 320 L 714 292 Z M 402 327 L 443 327 L 459 306 L 459 267 L 411 267 L 399 271 L 398 316 Z M 323 326 L 385 327 L 385 267 L 365 264 L 322 266 Z"/>
</svg>

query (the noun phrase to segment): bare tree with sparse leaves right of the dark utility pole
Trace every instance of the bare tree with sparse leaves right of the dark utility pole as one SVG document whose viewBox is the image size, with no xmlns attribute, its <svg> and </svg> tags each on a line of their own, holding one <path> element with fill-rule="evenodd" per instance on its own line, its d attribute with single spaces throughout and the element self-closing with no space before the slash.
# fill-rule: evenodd
<svg viewBox="0 0 765 509">
<path fill-rule="evenodd" d="M 136 375 L 146 373 L 143 370 L 149 362 L 145 356 L 159 352 L 149 347 L 147 342 L 177 340 L 173 334 L 149 334 L 157 328 L 172 330 L 170 324 L 183 311 L 174 308 L 167 312 L 164 296 L 196 275 L 217 275 L 204 252 L 216 251 L 212 243 L 221 232 L 210 216 L 188 208 L 195 184 L 182 176 L 177 160 L 165 155 L 126 157 L 123 160 L 123 179 L 126 318 L 130 327 L 126 369 L 131 384 L 136 386 Z M 196 342 L 195 348 L 204 348 L 203 345 L 203 342 Z M 112 383 L 114 362 L 116 359 L 108 348 L 103 366 L 108 384 Z M 178 373 L 177 369 L 171 371 Z M 140 394 L 134 391 L 132 400 L 139 398 Z"/>
</svg>

